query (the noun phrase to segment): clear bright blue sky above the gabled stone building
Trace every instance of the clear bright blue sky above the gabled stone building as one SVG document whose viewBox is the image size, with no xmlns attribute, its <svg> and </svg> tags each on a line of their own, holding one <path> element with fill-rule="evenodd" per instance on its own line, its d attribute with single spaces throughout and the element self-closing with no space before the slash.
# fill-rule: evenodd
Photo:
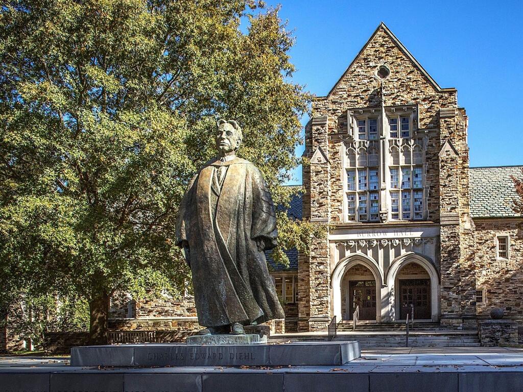
<svg viewBox="0 0 523 392">
<path fill-rule="evenodd" d="M 469 116 L 470 165 L 523 164 L 523 3 L 266 3 L 281 4 L 294 31 L 295 83 L 326 95 L 383 21 L 441 87 L 458 89 Z M 301 183 L 301 168 L 294 177 L 290 183 Z"/>
</svg>

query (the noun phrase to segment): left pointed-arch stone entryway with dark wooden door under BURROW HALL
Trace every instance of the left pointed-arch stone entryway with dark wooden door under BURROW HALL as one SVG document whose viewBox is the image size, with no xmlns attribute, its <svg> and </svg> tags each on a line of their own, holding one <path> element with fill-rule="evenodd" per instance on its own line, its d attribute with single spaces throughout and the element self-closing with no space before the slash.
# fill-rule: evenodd
<svg viewBox="0 0 523 392">
<path fill-rule="evenodd" d="M 360 319 L 381 321 L 382 282 L 381 270 L 368 256 L 353 254 L 340 261 L 331 275 L 333 314 L 350 320 L 360 305 Z"/>
</svg>

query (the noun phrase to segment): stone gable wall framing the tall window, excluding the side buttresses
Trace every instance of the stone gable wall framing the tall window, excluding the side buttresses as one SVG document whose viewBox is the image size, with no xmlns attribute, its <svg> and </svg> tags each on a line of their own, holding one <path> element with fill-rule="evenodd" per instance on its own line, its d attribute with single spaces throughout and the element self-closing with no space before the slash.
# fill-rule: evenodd
<svg viewBox="0 0 523 392">
<path fill-rule="evenodd" d="M 380 82 L 374 72 L 378 65 L 390 67 L 391 76 Z M 329 133 L 347 134 L 347 109 L 380 106 L 378 91 L 383 83 L 384 106 L 419 105 L 419 129 L 428 132 L 426 150 L 429 187 L 429 217 L 439 217 L 439 168 L 438 153 L 441 140 L 437 132 L 438 111 L 442 107 L 457 108 L 456 90 L 438 91 L 414 66 L 410 59 L 380 29 L 367 48 L 356 59 L 350 70 L 338 82 L 331 95 L 313 102 L 313 116 L 328 114 Z M 343 216 L 342 148 L 340 141 L 329 140 L 331 161 L 331 215 L 332 222 L 339 223 Z"/>
</svg>

